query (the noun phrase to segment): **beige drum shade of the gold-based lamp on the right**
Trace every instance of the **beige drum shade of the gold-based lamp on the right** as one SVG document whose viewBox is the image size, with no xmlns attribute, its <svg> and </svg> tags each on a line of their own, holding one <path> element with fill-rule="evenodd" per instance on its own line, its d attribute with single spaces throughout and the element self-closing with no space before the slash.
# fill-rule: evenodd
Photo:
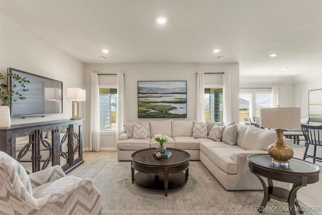
<svg viewBox="0 0 322 215">
<path fill-rule="evenodd" d="M 301 128 L 300 108 L 261 108 L 260 126 L 277 129 Z"/>
</svg>

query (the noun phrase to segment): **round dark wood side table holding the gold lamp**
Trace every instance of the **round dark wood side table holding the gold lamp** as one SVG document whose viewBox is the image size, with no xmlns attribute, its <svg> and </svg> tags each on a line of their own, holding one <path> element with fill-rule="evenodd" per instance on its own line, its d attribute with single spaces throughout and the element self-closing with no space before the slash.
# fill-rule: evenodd
<svg viewBox="0 0 322 215">
<path fill-rule="evenodd" d="M 267 154 L 250 155 L 247 157 L 247 161 L 251 172 L 260 179 L 264 188 L 264 198 L 259 206 L 259 212 L 262 212 L 267 201 L 273 198 L 288 202 L 292 215 L 296 214 L 295 205 L 299 212 L 303 213 L 297 201 L 296 192 L 299 188 L 318 181 L 320 169 L 317 165 L 296 158 L 289 160 L 289 166 L 275 165 Z M 261 176 L 268 179 L 268 186 Z M 273 180 L 293 183 L 292 189 L 275 187 Z"/>
</svg>

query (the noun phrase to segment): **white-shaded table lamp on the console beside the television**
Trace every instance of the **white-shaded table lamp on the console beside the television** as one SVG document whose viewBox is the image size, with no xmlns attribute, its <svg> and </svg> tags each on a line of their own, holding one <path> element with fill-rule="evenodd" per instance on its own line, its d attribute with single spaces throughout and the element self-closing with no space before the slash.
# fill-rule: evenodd
<svg viewBox="0 0 322 215">
<path fill-rule="evenodd" d="M 67 87 L 66 99 L 72 100 L 72 118 L 70 118 L 70 120 L 81 119 L 81 117 L 79 117 L 79 101 L 86 100 L 86 90 Z"/>
</svg>

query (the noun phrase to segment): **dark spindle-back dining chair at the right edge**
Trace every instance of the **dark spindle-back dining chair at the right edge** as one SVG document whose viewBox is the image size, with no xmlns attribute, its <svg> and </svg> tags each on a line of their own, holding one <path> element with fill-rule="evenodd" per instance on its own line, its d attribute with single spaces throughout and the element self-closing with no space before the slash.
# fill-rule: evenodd
<svg viewBox="0 0 322 215">
<path fill-rule="evenodd" d="M 322 126 L 301 124 L 301 128 L 306 145 L 303 160 L 305 160 L 305 158 L 312 158 L 314 164 L 315 161 L 322 162 L 322 158 L 316 156 L 316 147 L 322 146 L 322 133 L 320 133 L 322 132 Z M 313 146 L 312 153 L 308 152 L 309 146 Z"/>
</svg>

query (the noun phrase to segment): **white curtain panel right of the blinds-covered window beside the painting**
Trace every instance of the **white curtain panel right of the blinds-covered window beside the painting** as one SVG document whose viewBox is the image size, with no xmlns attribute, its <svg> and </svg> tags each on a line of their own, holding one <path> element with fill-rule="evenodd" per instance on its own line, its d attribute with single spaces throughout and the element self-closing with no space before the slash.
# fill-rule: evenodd
<svg viewBox="0 0 322 215">
<path fill-rule="evenodd" d="M 230 84 L 230 71 L 225 71 L 222 74 L 223 86 L 223 121 L 231 122 L 231 84 Z"/>
</svg>

